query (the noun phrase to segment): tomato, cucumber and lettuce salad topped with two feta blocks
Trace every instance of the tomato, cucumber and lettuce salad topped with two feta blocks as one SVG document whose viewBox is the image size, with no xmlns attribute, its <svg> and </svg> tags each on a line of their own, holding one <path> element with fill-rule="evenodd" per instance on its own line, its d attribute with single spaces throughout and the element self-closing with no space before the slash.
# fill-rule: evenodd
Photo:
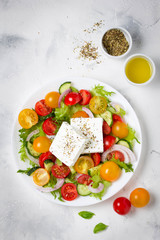
<svg viewBox="0 0 160 240">
<path fill-rule="evenodd" d="M 78 90 L 65 82 L 32 109 L 23 109 L 19 154 L 30 168 L 18 173 L 61 201 L 102 199 L 122 172 L 133 172 L 139 143 L 123 106 L 111 101 L 113 94 L 101 85 Z"/>
</svg>

